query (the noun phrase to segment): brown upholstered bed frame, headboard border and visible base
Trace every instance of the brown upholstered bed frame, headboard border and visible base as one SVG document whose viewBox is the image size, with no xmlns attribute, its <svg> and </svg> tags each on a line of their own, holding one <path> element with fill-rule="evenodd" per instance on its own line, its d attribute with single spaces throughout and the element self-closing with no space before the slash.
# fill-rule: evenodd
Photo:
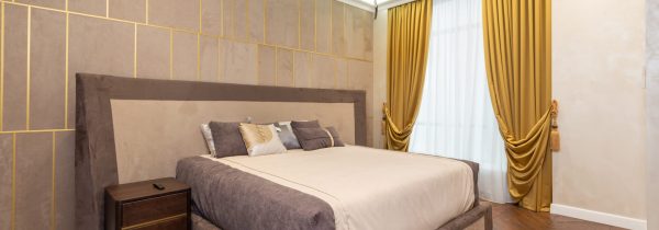
<svg viewBox="0 0 659 230">
<path fill-rule="evenodd" d="M 120 180 L 118 170 L 118 161 L 121 160 L 118 159 L 115 143 L 118 141 L 115 131 L 119 131 L 115 130 L 118 124 L 114 124 L 119 119 L 116 113 L 113 118 L 113 101 L 116 100 L 344 105 L 348 103 L 353 105 L 349 110 L 346 108 L 353 113 L 350 124 L 354 124 L 354 140 L 351 142 L 366 146 L 367 118 L 364 91 L 149 80 L 89 73 L 78 73 L 76 84 L 77 229 L 103 229 L 104 188 L 120 182 L 124 183 Z M 342 114 L 343 117 L 345 115 Z M 350 133 L 349 136 L 353 134 Z M 187 156 L 180 158 L 183 157 Z M 196 229 L 213 229 L 213 225 L 201 217 L 196 217 L 193 220 Z M 489 204 L 477 203 L 468 212 L 439 227 L 443 230 L 472 228 L 492 229 L 492 209 Z"/>
</svg>

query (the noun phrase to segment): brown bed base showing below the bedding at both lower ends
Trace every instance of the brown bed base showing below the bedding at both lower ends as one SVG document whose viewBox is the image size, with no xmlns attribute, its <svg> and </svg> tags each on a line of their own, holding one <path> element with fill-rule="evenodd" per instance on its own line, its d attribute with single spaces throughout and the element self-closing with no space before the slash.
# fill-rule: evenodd
<svg viewBox="0 0 659 230">
<path fill-rule="evenodd" d="M 492 230 L 492 205 L 479 203 L 471 210 L 456 217 L 437 230 Z M 206 219 L 192 215 L 192 230 L 222 230 Z"/>
</svg>

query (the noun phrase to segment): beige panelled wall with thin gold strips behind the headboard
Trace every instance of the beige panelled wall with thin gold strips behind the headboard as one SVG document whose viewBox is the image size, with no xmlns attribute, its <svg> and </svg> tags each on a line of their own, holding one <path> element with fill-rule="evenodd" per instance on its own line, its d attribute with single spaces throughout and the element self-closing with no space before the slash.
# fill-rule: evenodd
<svg viewBox="0 0 659 230">
<path fill-rule="evenodd" d="M 0 229 L 72 229 L 76 72 L 366 90 L 372 101 L 372 13 L 339 1 L 0 3 Z"/>
</svg>

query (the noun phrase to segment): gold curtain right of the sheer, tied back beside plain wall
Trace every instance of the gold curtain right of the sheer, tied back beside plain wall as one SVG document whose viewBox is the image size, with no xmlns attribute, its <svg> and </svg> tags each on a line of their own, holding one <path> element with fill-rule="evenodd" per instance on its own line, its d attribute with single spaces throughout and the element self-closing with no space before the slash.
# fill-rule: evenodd
<svg viewBox="0 0 659 230">
<path fill-rule="evenodd" d="M 520 206 L 551 204 L 551 0 L 483 0 L 485 66 L 505 139 L 509 192 Z"/>
</svg>

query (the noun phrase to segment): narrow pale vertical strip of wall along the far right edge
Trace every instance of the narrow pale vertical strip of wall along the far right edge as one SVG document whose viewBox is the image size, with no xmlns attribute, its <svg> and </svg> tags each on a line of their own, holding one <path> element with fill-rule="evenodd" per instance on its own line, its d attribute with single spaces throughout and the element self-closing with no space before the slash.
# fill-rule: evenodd
<svg viewBox="0 0 659 230">
<path fill-rule="evenodd" d="M 648 229 L 659 230 L 659 0 L 646 1 Z"/>
</svg>

